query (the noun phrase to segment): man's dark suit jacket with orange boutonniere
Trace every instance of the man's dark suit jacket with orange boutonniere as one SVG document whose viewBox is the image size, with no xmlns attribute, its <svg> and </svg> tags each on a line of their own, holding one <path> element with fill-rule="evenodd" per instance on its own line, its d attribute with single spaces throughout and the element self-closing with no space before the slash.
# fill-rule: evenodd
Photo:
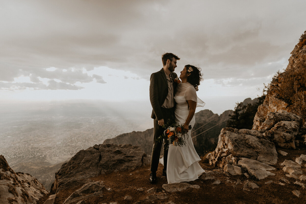
<svg viewBox="0 0 306 204">
<path fill-rule="evenodd" d="M 171 72 L 170 74 L 172 80 L 177 78 L 176 73 Z M 173 81 L 173 96 L 175 95 L 176 87 L 177 83 Z M 166 100 L 167 95 L 168 95 L 168 82 L 166 79 L 165 72 L 162 68 L 160 71 L 151 74 L 150 77 L 150 102 L 153 108 L 151 118 L 155 120 L 161 120 L 164 118 L 161 107 L 164 101 Z"/>
</svg>

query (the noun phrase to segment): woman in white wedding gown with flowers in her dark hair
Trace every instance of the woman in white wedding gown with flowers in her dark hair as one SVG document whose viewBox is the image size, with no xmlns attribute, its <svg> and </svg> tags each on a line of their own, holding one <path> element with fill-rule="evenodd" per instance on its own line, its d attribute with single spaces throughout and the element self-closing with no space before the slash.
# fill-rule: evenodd
<svg viewBox="0 0 306 204">
<path fill-rule="evenodd" d="M 192 65 L 186 65 L 181 71 L 181 83 L 178 84 L 174 96 L 175 122 L 183 124 L 185 130 L 188 126 L 193 127 L 195 123 L 194 113 L 197 106 L 204 106 L 205 103 L 196 96 L 197 85 L 202 80 L 202 74 L 198 68 Z M 193 181 L 199 178 L 204 170 L 199 165 L 199 155 L 193 146 L 191 139 L 191 130 L 188 131 L 186 146 L 179 147 L 169 145 L 167 180 L 168 184 Z"/>
</svg>

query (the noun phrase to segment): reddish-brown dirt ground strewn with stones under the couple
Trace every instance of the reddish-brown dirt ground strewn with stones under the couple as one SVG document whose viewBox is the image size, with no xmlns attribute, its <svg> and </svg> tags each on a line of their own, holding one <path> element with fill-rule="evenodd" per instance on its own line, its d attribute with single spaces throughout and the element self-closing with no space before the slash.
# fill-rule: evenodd
<svg viewBox="0 0 306 204">
<path fill-rule="evenodd" d="M 103 174 L 97 177 L 91 178 L 93 181 L 103 181 L 106 187 L 110 187 L 112 191 L 103 192 L 103 197 L 92 197 L 86 200 L 88 204 L 102 204 L 117 202 L 118 204 L 132 204 L 132 203 L 149 203 L 144 201 L 147 196 L 152 195 L 147 192 L 152 187 L 157 188 L 157 192 L 164 192 L 168 198 L 163 200 L 154 201 L 155 204 L 168 203 L 169 201 L 175 204 L 180 203 L 306 203 L 306 189 L 293 184 L 296 180 L 288 178 L 285 176 L 285 172 L 282 171 L 282 163 L 285 159 L 295 161 L 296 157 L 300 154 L 306 154 L 305 149 L 288 150 L 277 148 L 277 150 L 283 150 L 288 153 L 287 156 L 282 156 L 278 154 L 278 162 L 272 170 L 275 173 L 274 176 L 268 176 L 265 179 L 257 180 L 254 177 L 247 179 L 243 176 L 226 176 L 223 173 L 215 174 L 216 179 L 221 181 L 220 184 L 213 184 L 216 180 L 202 180 L 198 179 L 195 181 L 188 182 L 188 184 L 199 185 L 199 189 L 188 188 L 181 192 L 165 192 L 162 188 L 163 184 L 167 184 L 167 179 L 162 176 L 163 166 L 159 164 L 157 176 L 158 181 L 155 184 L 149 182 L 150 168 L 149 166 L 143 166 L 141 168 L 135 169 L 133 171 L 127 172 L 112 172 L 110 174 Z M 216 167 L 210 166 L 205 157 L 201 158 L 199 162 L 205 171 L 211 171 L 213 169 L 218 169 Z M 304 175 L 306 175 L 305 162 L 302 164 L 302 170 Z M 289 180 L 289 184 L 286 184 L 281 180 L 285 178 Z M 241 180 L 242 184 L 237 184 L 237 179 Z M 244 191 L 244 182 L 250 180 L 256 183 L 259 188 L 252 189 L 251 191 Z M 272 184 L 265 184 L 265 182 L 273 180 Z M 285 184 L 282 186 L 278 184 L 279 182 Z M 302 182 L 303 183 L 303 182 Z M 57 194 L 55 204 L 62 203 L 66 198 L 68 198 L 73 191 L 78 189 L 78 186 L 72 187 L 69 191 L 59 192 Z M 143 191 L 138 191 L 138 188 L 143 188 Z M 293 195 L 293 190 L 299 190 L 301 195 L 298 198 Z M 131 200 L 124 199 L 125 196 L 131 196 Z M 37 202 L 38 204 L 43 204 L 43 202 L 48 198 L 46 195 Z M 138 202 L 140 201 L 140 202 Z"/>
</svg>

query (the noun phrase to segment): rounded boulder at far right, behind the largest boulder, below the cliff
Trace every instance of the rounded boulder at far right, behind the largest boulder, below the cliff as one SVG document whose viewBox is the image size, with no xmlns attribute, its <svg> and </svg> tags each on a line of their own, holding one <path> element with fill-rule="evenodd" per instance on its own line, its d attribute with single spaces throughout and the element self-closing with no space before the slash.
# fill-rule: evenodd
<svg viewBox="0 0 306 204">
<path fill-rule="evenodd" d="M 267 127 L 270 128 L 270 126 Z M 299 123 L 297 121 L 280 121 L 263 135 L 279 147 L 295 149 L 295 137 L 298 132 Z"/>
</svg>

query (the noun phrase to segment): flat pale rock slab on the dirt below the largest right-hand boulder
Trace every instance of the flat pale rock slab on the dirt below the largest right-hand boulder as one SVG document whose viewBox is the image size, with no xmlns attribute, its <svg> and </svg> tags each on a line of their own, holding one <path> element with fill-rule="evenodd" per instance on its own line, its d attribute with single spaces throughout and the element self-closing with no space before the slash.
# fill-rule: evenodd
<svg viewBox="0 0 306 204">
<path fill-rule="evenodd" d="M 260 161 L 256 161 L 249 158 L 241 158 L 241 160 L 238 161 L 238 164 L 247 168 L 248 172 L 259 180 L 266 178 L 270 175 L 275 175 L 274 173 L 267 171 L 274 170 L 274 167 Z"/>
</svg>

